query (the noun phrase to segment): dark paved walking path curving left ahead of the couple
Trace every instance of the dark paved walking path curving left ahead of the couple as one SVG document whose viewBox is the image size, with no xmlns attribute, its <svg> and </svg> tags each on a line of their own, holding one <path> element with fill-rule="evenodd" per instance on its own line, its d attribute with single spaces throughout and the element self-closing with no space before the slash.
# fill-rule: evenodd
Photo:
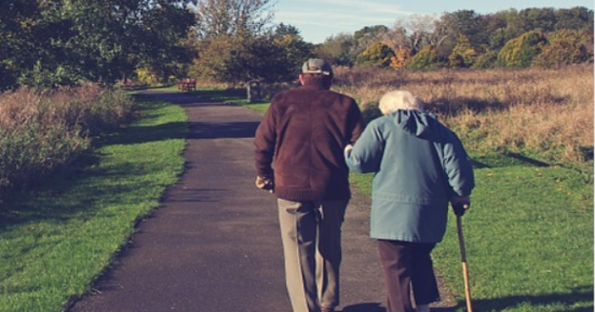
<svg viewBox="0 0 595 312">
<path fill-rule="evenodd" d="M 130 247 L 70 312 L 291 312 L 275 200 L 255 188 L 253 135 L 261 117 L 183 93 L 186 171 Z M 343 227 L 343 312 L 384 311 L 368 203 L 353 198 Z"/>
</svg>

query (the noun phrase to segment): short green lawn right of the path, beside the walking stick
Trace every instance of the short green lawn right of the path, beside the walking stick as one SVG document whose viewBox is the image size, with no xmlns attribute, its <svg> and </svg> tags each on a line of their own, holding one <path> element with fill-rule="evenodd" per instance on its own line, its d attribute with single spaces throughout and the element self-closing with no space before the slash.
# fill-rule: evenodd
<svg viewBox="0 0 595 312">
<path fill-rule="evenodd" d="M 246 106 L 264 112 L 268 103 Z M 549 166 L 539 155 L 470 152 L 477 187 L 463 227 L 474 311 L 593 311 L 593 162 Z M 351 179 L 371 194 L 371 174 Z M 464 311 L 456 222 L 449 218 L 433 257 L 459 303 L 455 311 Z"/>
</svg>

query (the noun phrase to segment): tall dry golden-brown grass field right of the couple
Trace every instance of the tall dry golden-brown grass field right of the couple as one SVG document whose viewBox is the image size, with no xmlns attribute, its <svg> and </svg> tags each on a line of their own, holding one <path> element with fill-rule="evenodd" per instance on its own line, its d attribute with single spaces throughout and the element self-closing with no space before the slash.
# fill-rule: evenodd
<svg viewBox="0 0 595 312">
<path fill-rule="evenodd" d="M 593 64 L 433 72 L 337 68 L 333 89 L 364 109 L 389 90 L 409 90 L 468 138 L 471 149 L 525 150 L 562 162 L 592 159 L 593 77 Z"/>
</svg>

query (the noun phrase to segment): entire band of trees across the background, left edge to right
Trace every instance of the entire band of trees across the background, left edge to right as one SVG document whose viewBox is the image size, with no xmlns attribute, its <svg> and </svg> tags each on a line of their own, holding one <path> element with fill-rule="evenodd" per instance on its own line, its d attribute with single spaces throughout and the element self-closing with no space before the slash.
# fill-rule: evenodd
<svg viewBox="0 0 595 312">
<path fill-rule="evenodd" d="M 134 77 L 289 81 L 303 59 L 400 70 L 593 62 L 593 10 L 410 15 L 314 45 L 269 0 L 5 0 L 0 90 Z"/>
</svg>

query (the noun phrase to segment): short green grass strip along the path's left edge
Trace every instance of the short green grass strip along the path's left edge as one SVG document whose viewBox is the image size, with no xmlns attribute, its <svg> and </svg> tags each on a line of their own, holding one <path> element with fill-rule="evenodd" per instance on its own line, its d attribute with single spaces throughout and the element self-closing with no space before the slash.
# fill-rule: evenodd
<svg viewBox="0 0 595 312">
<path fill-rule="evenodd" d="M 140 119 L 0 213 L 0 311 L 61 311 L 114 260 L 183 170 L 186 115 L 147 99 Z M 83 163 L 84 162 L 84 163 Z"/>
</svg>

